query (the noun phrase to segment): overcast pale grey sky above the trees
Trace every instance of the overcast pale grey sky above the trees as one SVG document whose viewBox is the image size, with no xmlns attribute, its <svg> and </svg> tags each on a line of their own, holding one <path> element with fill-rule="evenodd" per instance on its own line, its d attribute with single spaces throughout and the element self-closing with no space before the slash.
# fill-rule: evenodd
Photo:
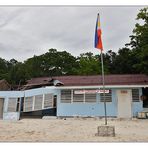
<svg viewBox="0 0 148 148">
<path fill-rule="evenodd" d="M 125 47 L 144 6 L 0 6 L 0 57 L 18 61 L 55 48 L 73 56 L 92 52 L 97 13 L 104 51 Z"/>
</svg>

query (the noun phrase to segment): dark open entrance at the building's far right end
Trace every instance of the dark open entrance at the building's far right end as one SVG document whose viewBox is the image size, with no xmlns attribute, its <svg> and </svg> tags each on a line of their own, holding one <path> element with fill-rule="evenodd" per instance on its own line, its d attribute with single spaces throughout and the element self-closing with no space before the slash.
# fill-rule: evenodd
<svg viewBox="0 0 148 148">
<path fill-rule="evenodd" d="M 143 100 L 143 108 L 148 109 L 148 87 L 142 88 L 142 98 Z"/>
</svg>

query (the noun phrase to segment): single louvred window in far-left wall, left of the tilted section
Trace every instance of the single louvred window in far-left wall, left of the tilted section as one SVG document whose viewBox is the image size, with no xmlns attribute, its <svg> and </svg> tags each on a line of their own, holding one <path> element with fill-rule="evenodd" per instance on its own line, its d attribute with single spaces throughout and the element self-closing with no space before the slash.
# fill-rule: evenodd
<svg viewBox="0 0 148 148">
<path fill-rule="evenodd" d="M 18 98 L 9 98 L 8 101 L 8 112 L 16 112 L 17 109 L 17 99 Z"/>
</svg>

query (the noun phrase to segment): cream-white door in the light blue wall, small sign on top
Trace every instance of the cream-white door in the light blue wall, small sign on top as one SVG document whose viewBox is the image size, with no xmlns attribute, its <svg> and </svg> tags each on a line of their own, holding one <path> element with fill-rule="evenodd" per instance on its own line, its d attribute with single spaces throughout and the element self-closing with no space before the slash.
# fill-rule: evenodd
<svg viewBox="0 0 148 148">
<path fill-rule="evenodd" d="M 118 97 L 118 118 L 132 117 L 132 91 L 130 89 L 117 90 Z"/>
</svg>

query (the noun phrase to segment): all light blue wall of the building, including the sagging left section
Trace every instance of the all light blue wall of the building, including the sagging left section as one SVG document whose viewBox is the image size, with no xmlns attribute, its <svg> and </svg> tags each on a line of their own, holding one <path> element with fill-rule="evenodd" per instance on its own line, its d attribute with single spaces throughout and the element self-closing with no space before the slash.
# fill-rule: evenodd
<svg viewBox="0 0 148 148">
<path fill-rule="evenodd" d="M 62 88 L 61 88 L 62 89 Z M 106 103 L 107 116 L 117 116 L 117 89 L 112 90 L 112 102 Z M 139 88 L 140 96 L 142 89 Z M 38 88 L 25 91 L 0 91 L 0 97 L 4 99 L 4 113 L 7 112 L 8 99 L 11 97 L 29 97 L 34 95 L 53 93 L 57 95 L 57 116 L 104 116 L 104 103 L 100 102 L 100 96 L 97 95 L 96 103 L 61 103 L 61 90 L 56 87 Z M 136 116 L 138 112 L 143 110 L 143 103 L 132 102 L 132 113 Z"/>
</svg>

